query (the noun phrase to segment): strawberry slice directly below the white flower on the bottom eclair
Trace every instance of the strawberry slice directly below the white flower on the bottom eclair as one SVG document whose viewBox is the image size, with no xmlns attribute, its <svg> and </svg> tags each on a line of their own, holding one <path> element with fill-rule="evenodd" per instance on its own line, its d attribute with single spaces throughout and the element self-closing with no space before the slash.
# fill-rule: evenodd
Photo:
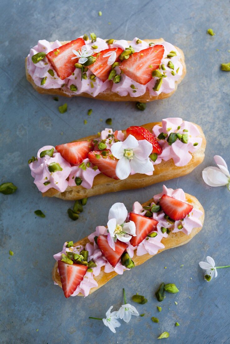
<svg viewBox="0 0 230 344">
<path fill-rule="evenodd" d="M 115 251 L 109 246 L 107 236 L 99 235 L 97 238 L 97 245 L 101 250 L 101 253 L 108 260 L 109 264 L 115 268 L 119 262 L 123 252 L 127 249 L 128 245 L 117 240 L 115 243 Z"/>
</svg>

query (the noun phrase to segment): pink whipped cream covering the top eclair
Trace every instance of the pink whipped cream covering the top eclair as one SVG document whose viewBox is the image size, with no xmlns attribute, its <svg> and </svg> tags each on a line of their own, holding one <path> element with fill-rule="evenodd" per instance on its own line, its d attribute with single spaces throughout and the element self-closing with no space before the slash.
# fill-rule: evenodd
<svg viewBox="0 0 230 344">
<path fill-rule="evenodd" d="M 81 36 L 83 37 L 83 36 Z M 143 49 L 149 48 L 148 43 L 141 41 L 141 43 L 137 44 L 138 38 L 135 37 L 131 43 L 128 43 L 126 40 L 118 40 L 115 41 L 113 44 L 108 45 L 104 40 L 97 37 L 96 42 L 91 43 L 91 40 L 85 41 L 85 45 L 88 47 L 88 49 L 92 49 L 92 45 L 97 46 L 97 49 L 93 49 L 94 53 L 100 52 L 101 50 L 105 50 L 113 47 L 121 47 L 122 49 L 125 49 L 131 45 L 135 52 L 139 52 Z M 57 49 L 59 46 L 61 46 L 61 43 L 59 41 L 55 41 L 54 43 L 50 44 L 46 40 L 39 40 L 38 44 L 34 46 L 32 49 L 30 49 L 30 53 L 28 55 L 27 59 L 27 69 L 29 74 L 31 75 L 34 83 L 37 86 L 40 86 L 42 88 L 50 89 L 50 88 L 60 88 L 62 87 L 63 92 L 67 94 L 81 94 L 81 93 L 87 93 L 90 94 L 93 97 L 96 97 L 99 93 L 103 92 L 104 90 L 108 89 L 112 85 L 112 91 L 118 93 L 120 96 L 126 96 L 130 95 L 131 97 L 139 97 L 146 93 L 146 90 L 149 90 L 150 95 L 157 96 L 161 92 L 163 93 L 170 93 L 172 90 L 175 89 L 175 82 L 181 77 L 183 66 L 179 62 L 180 60 L 180 53 L 179 51 L 170 43 L 163 42 L 159 43 L 164 46 L 164 56 L 162 59 L 162 63 L 164 63 L 164 66 L 166 70 L 164 71 L 167 75 L 166 78 L 163 78 L 163 83 L 160 87 L 159 91 L 153 91 L 153 87 L 156 83 L 157 78 L 154 77 L 147 85 L 141 85 L 125 74 L 121 74 L 121 81 L 118 84 L 113 84 L 112 81 L 106 81 L 102 82 L 98 77 L 94 78 L 93 80 L 90 80 L 89 76 L 91 72 L 88 70 L 86 72 L 87 79 L 81 80 L 81 71 L 80 69 L 76 68 L 73 75 L 69 76 L 68 78 L 61 80 L 56 72 L 54 71 L 54 76 L 51 76 L 48 73 L 49 69 L 53 69 L 51 64 L 49 63 L 48 59 L 45 57 L 43 60 L 39 61 L 38 63 L 34 64 L 31 60 L 31 57 L 34 54 L 37 54 L 38 52 L 45 52 L 48 53 L 54 49 Z M 170 69 L 167 66 L 167 63 L 169 59 L 167 58 L 167 54 L 170 51 L 176 51 L 177 56 L 173 56 L 170 58 L 170 61 L 174 64 L 174 72 L 175 75 L 173 76 L 171 74 L 172 69 Z M 178 69 L 179 68 L 179 69 Z M 120 74 L 119 67 L 116 67 L 117 74 Z M 177 71 L 177 72 L 176 72 Z M 162 71 L 163 72 L 163 71 Z M 41 80 L 46 77 L 46 83 L 41 85 Z M 77 86 L 76 91 L 70 90 L 70 85 Z M 135 91 L 133 92 L 133 88 L 130 86 L 134 85 L 136 87 Z M 133 87 L 133 86 L 132 86 Z"/>
</svg>

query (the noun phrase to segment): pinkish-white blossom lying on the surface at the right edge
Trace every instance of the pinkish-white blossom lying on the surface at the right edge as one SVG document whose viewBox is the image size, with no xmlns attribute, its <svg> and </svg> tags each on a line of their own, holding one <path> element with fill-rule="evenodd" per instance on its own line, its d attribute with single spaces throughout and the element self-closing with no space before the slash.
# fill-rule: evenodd
<svg viewBox="0 0 230 344">
<path fill-rule="evenodd" d="M 220 155 L 215 155 L 214 160 L 218 167 L 206 167 L 202 172 L 203 180 L 209 186 L 227 185 L 230 191 L 230 173 L 228 166 Z"/>
</svg>

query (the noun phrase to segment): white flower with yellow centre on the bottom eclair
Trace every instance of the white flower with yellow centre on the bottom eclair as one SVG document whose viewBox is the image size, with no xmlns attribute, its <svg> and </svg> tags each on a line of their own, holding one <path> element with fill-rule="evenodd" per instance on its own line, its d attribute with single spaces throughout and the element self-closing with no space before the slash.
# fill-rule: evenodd
<svg viewBox="0 0 230 344">
<path fill-rule="evenodd" d="M 127 243 L 131 239 L 131 235 L 136 236 L 136 226 L 133 221 L 126 222 L 128 211 L 123 203 L 115 203 L 109 209 L 108 226 L 108 243 L 115 250 L 114 242 L 119 239 L 123 243 Z"/>
</svg>

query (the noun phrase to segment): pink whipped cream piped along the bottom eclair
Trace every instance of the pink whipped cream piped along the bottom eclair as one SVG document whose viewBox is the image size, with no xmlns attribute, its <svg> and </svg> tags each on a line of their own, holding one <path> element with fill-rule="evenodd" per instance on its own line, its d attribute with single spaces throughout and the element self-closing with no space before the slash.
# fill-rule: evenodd
<svg viewBox="0 0 230 344">
<path fill-rule="evenodd" d="M 155 195 L 153 197 L 154 202 L 158 203 L 160 198 L 163 194 L 166 194 L 170 197 L 176 198 L 177 200 L 180 200 L 182 202 L 186 202 L 186 197 L 184 194 L 184 191 L 182 189 L 168 189 L 165 185 L 163 185 L 162 193 Z M 153 203 L 151 204 L 153 205 Z M 144 215 L 146 213 L 146 210 L 142 208 L 142 205 L 139 202 L 135 202 L 133 204 L 132 212 L 139 215 Z M 147 237 L 144 239 L 138 246 L 133 247 L 130 243 L 128 243 L 127 252 L 129 256 L 132 258 L 134 255 L 134 250 L 136 251 L 137 256 L 142 256 L 145 254 L 150 254 L 151 256 L 154 256 L 157 254 L 157 252 L 160 249 L 164 248 L 164 245 L 161 243 L 162 238 L 167 238 L 167 233 L 161 232 L 161 227 L 169 228 L 172 233 L 176 232 L 183 232 L 186 235 L 189 235 L 192 232 L 193 228 L 196 227 L 202 227 L 200 217 L 202 216 L 202 212 L 198 209 L 193 208 L 192 211 L 187 215 L 183 220 L 181 221 L 175 221 L 174 223 L 170 223 L 167 221 L 167 219 L 164 218 L 164 212 L 161 210 L 158 213 L 153 213 L 153 218 L 158 221 L 157 224 L 157 230 L 154 230 L 154 232 L 157 232 L 157 236 L 154 238 Z M 128 219 L 128 217 L 127 217 Z M 178 229 L 178 226 L 182 225 L 182 229 Z M 74 293 L 71 296 L 76 296 L 78 293 L 82 293 L 84 296 L 88 296 L 90 289 L 97 287 L 98 283 L 94 280 L 93 276 L 98 276 L 101 267 L 104 266 L 104 272 L 109 273 L 112 271 L 117 272 L 119 275 L 122 275 L 125 270 L 130 270 L 123 266 L 121 264 L 121 261 L 118 262 L 115 268 L 113 268 L 107 259 L 102 255 L 98 245 L 94 241 L 95 236 L 99 235 L 106 235 L 108 236 L 107 228 L 105 226 L 97 226 L 95 232 L 90 234 L 88 236 L 89 243 L 86 244 L 85 250 L 89 252 L 88 255 L 88 261 L 91 259 L 97 264 L 97 267 L 92 268 L 92 272 L 87 272 L 84 276 L 83 280 L 81 281 L 80 285 L 77 287 L 77 289 L 74 291 Z M 58 261 L 61 260 L 61 254 L 66 254 L 66 252 L 74 252 L 77 254 L 80 254 L 80 251 L 83 249 L 82 246 L 80 247 L 66 247 L 67 242 L 64 243 L 63 249 L 58 254 L 54 255 L 53 258 Z M 57 284 L 54 282 L 54 284 Z"/>
</svg>

